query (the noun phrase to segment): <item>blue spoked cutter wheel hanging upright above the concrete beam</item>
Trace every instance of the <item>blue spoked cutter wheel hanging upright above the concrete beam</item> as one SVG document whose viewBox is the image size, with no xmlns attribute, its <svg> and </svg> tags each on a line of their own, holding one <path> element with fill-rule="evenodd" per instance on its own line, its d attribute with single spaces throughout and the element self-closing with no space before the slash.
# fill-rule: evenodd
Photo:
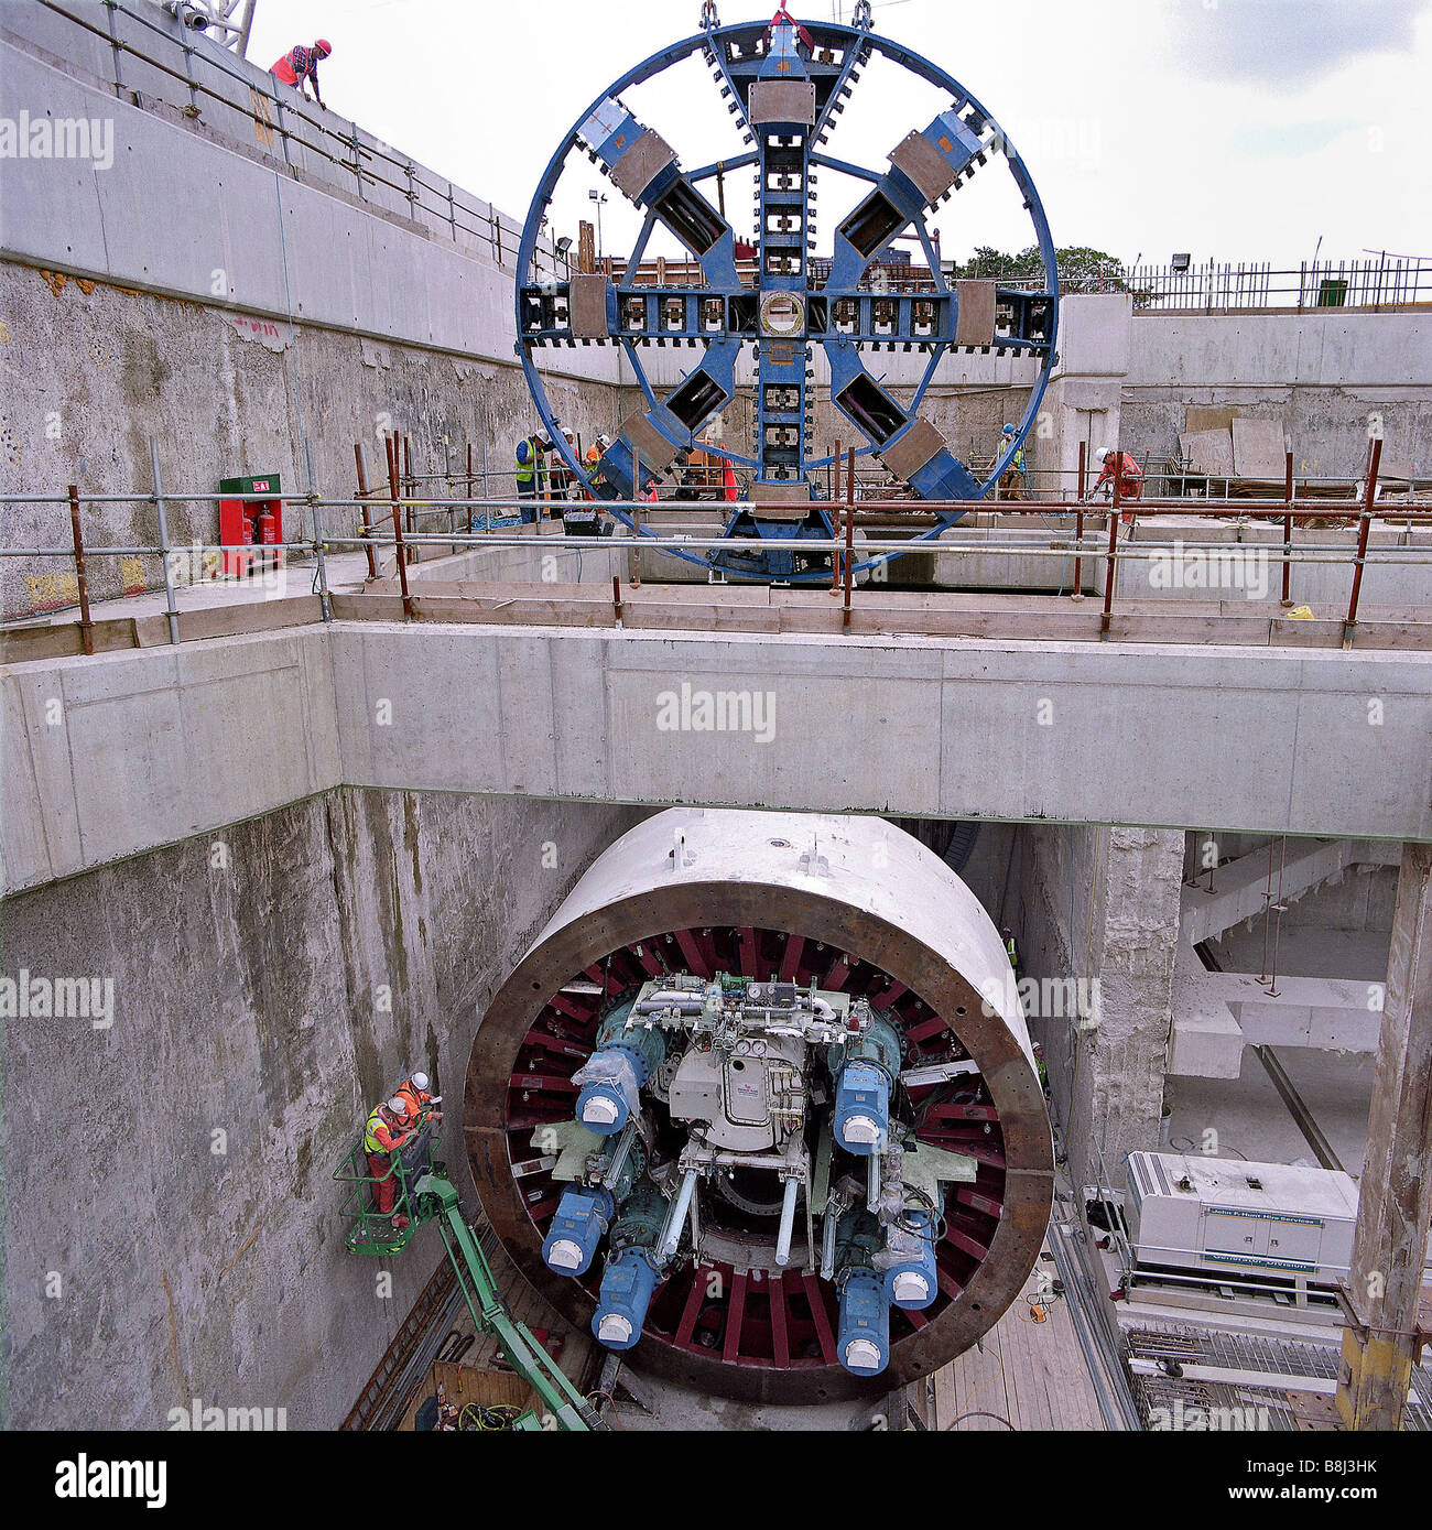
<svg viewBox="0 0 1432 1530">
<path fill-rule="evenodd" d="M 653 54 L 604 90 L 578 118 L 548 164 L 532 199 L 519 251 L 517 352 L 537 412 L 572 473 L 594 496 L 609 502 L 632 500 L 636 462 L 664 471 L 695 448 L 722 451 L 734 464 L 756 470 L 751 499 L 782 500 L 780 514 L 762 514 L 756 505 L 736 505 L 725 526 L 728 546 L 713 552 L 666 551 L 690 563 L 757 580 L 808 583 L 829 578 L 829 554 L 802 554 L 800 543 L 829 539 L 834 523 L 822 505 L 819 474 L 831 456 L 811 456 L 812 346 L 825 349 L 831 369 L 831 399 L 864 436 L 860 456 L 892 456 L 910 488 L 924 500 L 975 500 L 999 482 L 1024 444 L 1043 399 L 1054 367 L 1059 332 L 1059 282 L 1054 242 L 1043 207 L 1024 161 L 993 116 L 956 80 L 919 54 L 877 37 L 863 24 L 837 26 L 799 21 L 785 8 L 770 23 L 719 26 L 707 5 L 702 32 Z M 666 141 L 624 106 L 623 92 L 662 73 L 693 54 L 702 54 L 716 86 L 751 145 L 745 153 L 693 171 L 681 164 Z M 884 171 L 861 168 L 823 151 L 835 119 L 875 54 L 907 69 L 950 95 L 950 106 L 890 153 Z M 627 278 L 615 286 L 604 277 L 569 282 L 534 282 L 537 240 L 546 210 L 568 156 L 584 150 L 644 214 L 636 248 L 627 257 Z M 993 155 L 1002 155 L 1034 226 L 1043 265 L 1042 291 L 996 288 L 999 329 L 990 344 L 967 349 L 1025 352 L 1040 358 L 1039 378 L 1013 442 L 981 482 L 919 416 L 926 390 L 942 356 L 956 347 L 959 291 L 939 269 L 926 214 L 947 200 Z M 757 168 L 757 285 L 742 283 L 736 263 L 736 234 L 701 184 L 719 171 Z M 834 234 L 829 272 L 811 271 L 817 171 L 825 167 L 854 176 L 869 187 L 864 199 Z M 635 274 L 656 225 L 667 228 L 701 266 L 704 286 L 636 286 Z M 866 280 L 872 260 L 892 239 L 915 231 L 935 275 L 933 292 L 889 294 Z M 583 292 L 581 314 L 574 314 L 574 292 Z M 598 283 L 597 291 L 592 283 Z M 592 323 L 592 315 L 598 321 Z M 548 346 L 620 344 L 632 364 L 646 401 L 615 436 L 595 470 L 578 462 L 552 415 L 535 353 Z M 641 349 L 650 344 L 702 346 L 702 360 L 664 396 L 650 386 Z M 736 396 L 736 364 L 742 347 L 756 352 L 756 454 L 740 456 L 702 441 L 701 430 Z M 900 404 L 871 375 L 861 352 L 921 350 L 929 355 L 909 407 Z M 656 461 L 662 459 L 662 461 Z M 629 511 L 612 514 L 646 537 L 661 532 L 636 528 Z M 912 539 L 938 537 L 964 513 L 942 509 L 935 525 Z M 900 557 L 881 554 L 857 566 L 867 572 Z"/>
</svg>

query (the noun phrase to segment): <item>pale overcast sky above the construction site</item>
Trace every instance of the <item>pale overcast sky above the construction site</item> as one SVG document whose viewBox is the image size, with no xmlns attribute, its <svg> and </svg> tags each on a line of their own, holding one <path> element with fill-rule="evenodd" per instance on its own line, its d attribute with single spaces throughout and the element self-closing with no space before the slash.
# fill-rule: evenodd
<svg viewBox="0 0 1432 1530">
<path fill-rule="evenodd" d="M 725 23 L 774 0 L 721 0 Z M 525 217 L 563 135 L 606 86 L 698 29 L 699 0 L 259 0 L 249 58 L 326 37 L 327 104 L 477 196 Z M 792 5 L 849 18 L 849 0 Z M 949 70 L 1024 155 L 1059 245 L 1126 262 L 1432 259 L 1432 0 L 886 0 L 877 32 Z M 704 67 L 629 104 L 695 167 L 744 147 Z M 872 67 L 828 145 L 871 168 L 947 101 Z M 555 231 L 601 182 L 572 161 Z M 750 197 L 728 211 L 751 233 Z M 820 187 L 829 228 L 854 184 Z M 711 191 L 714 196 L 714 191 Z M 630 223 L 603 210 L 606 249 Z M 742 226 L 744 225 L 744 226 Z M 1002 170 L 942 208 L 944 254 L 1033 242 Z M 658 246 L 653 246 L 653 251 Z"/>
</svg>

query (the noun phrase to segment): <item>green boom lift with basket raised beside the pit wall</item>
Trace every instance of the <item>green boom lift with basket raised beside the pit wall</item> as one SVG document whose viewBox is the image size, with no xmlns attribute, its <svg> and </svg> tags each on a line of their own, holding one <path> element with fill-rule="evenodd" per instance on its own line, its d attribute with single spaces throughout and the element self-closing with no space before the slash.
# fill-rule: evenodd
<svg viewBox="0 0 1432 1530">
<path fill-rule="evenodd" d="M 379 1212 L 373 1192 L 390 1177 L 396 1178 L 393 1209 Z M 473 1323 L 479 1331 L 497 1339 L 508 1363 L 537 1394 L 546 1418 L 557 1429 L 569 1432 L 606 1429 L 587 1400 L 532 1337 L 526 1323 L 517 1322 L 508 1313 L 497 1294 L 497 1282 L 493 1279 L 487 1255 L 457 1204 L 457 1192 L 448 1180 L 447 1164 L 433 1157 L 431 1137 L 427 1132 L 419 1134 L 415 1144 L 404 1152 L 393 1154 L 389 1172 L 379 1177 L 369 1174 L 367 1154 L 360 1138 L 334 1170 L 334 1178 L 349 1186 L 340 1212 L 349 1222 L 344 1239 L 349 1253 L 379 1258 L 401 1253 L 421 1222 L 436 1219 Z M 395 1221 L 402 1226 L 395 1227 Z M 528 1411 L 513 1427 L 543 1426 L 545 1418 Z"/>
</svg>

